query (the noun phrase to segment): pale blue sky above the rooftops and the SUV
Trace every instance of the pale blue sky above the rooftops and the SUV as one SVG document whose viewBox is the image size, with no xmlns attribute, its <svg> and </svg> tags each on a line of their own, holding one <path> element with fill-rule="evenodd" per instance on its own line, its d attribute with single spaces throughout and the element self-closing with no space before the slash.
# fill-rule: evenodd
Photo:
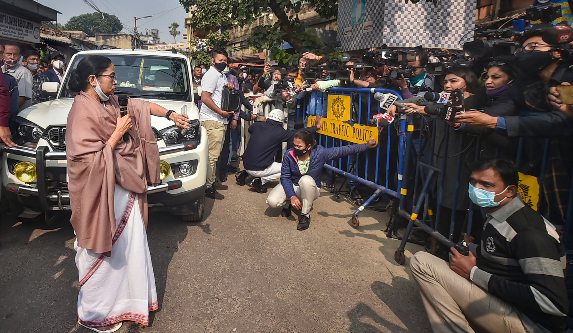
<svg viewBox="0 0 573 333">
<path fill-rule="evenodd" d="M 58 14 L 58 23 L 62 24 L 68 22 L 70 17 L 95 11 L 82 0 L 36 1 L 60 11 L 62 14 Z M 92 0 L 92 2 L 104 13 L 116 15 L 123 23 L 123 31 L 126 33 L 133 32 L 134 16 L 153 15 L 150 18 L 138 19 L 139 32 L 145 32 L 144 29 L 159 29 L 160 41 L 172 43 L 173 37 L 168 33 L 169 29 L 167 27 L 172 22 L 177 22 L 181 31 L 181 34 L 177 36 L 177 41 L 184 41 L 183 34 L 187 32 L 185 30 L 187 13 L 185 13 L 185 9 L 179 4 L 178 0 Z"/>
</svg>

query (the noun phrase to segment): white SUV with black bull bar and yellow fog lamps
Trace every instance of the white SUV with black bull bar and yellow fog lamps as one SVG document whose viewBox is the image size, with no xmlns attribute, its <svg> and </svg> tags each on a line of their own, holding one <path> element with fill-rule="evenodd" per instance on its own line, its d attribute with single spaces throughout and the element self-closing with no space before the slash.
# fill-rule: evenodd
<svg viewBox="0 0 573 333">
<path fill-rule="evenodd" d="M 185 221 L 203 218 L 209 141 L 199 122 L 193 99 L 191 64 L 185 55 L 167 51 L 93 50 L 75 54 L 68 69 L 76 68 L 87 55 L 104 55 L 115 65 L 117 90 L 130 98 L 142 98 L 166 109 L 186 109 L 191 129 L 183 135 L 166 118 L 151 117 L 159 146 L 162 185 L 148 188 L 150 211 L 182 215 Z M 44 94 L 53 100 L 30 106 L 16 117 L 13 141 L 16 148 L 2 148 L 2 195 L 21 217 L 70 209 L 66 168 L 66 120 L 74 93 L 64 82 L 46 82 Z M 86 189 L 89 191 L 89 189 Z"/>
</svg>

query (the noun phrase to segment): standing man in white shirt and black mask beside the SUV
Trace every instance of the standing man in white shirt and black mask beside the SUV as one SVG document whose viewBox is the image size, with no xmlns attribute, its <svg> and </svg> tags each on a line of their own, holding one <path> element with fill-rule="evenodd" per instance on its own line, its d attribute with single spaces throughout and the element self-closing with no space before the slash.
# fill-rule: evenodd
<svg viewBox="0 0 573 333">
<path fill-rule="evenodd" d="M 209 164 L 207 165 L 207 189 L 205 196 L 211 199 L 225 199 L 218 189 L 228 189 L 223 184 L 215 183 L 216 165 L 223 141 L 225 141 L 225 130 L 229 124 L 229 116 L 234 112 L 227 112 L 221 109 L 221 97 L 223 88 L 227 85 L 227 77 L 223 70 L 227 66 L 227 52 L 223 49 L 211 51 L 211 67 L 201 80 L 201 125 L 207 131 L 209 139 Z"/>
</svg>

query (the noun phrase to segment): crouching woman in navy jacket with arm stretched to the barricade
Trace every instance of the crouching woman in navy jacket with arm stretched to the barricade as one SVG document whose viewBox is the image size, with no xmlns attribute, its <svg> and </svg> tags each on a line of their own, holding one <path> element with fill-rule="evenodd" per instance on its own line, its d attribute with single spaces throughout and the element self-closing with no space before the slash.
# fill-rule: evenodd
<svg viewBox="0 0 573 333">
<path fill-rule="evenodd" d="M 375 148 L 373 138 L 366 144 L 324 148 L 316 144 L 311 132 L 301 130 L 295 134 L 293 148 L 282 157 L 281 183 L 266 198 L 272 208 L 282 207 L 282 217 L 291 216 L 292 207 L 300 209 L 297 230 L 308 229 L 311 224 L 312 202 L 319 197 L 322 169 L 325 162 Z"/>
</svg>

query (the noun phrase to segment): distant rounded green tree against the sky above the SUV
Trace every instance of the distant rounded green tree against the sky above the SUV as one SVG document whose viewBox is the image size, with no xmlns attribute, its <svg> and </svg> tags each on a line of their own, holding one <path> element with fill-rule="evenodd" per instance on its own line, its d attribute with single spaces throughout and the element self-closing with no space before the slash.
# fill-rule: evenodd
<svg viewBox="0 0 573 333">
<path fill-rule="evenodd" d="M 123 25 L 116 15 L 97 12 L 74 16 L 64 27 L 64 30 L 81 30 L 88 35 L 117 34 L 123 30 Z"/>
</svg>

